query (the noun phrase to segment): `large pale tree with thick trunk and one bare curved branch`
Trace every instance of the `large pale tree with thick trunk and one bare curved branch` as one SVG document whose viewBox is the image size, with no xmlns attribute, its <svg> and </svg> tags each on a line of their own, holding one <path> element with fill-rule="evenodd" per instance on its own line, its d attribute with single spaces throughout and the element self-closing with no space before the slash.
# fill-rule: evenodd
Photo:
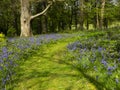
<svg viewBox="0 0 120 90">
<path fill-rule="evenodd" d="M 40 15 L 43 15 L 51 5 L 52 1 L 48 3 L 48 6 L 42 12 L 35 15 L 31 15 L 30 0 L 21 0 L 21 37 L 32 36 L 32 31 L 30 28 L 31 20 Z"/>
</svg>

